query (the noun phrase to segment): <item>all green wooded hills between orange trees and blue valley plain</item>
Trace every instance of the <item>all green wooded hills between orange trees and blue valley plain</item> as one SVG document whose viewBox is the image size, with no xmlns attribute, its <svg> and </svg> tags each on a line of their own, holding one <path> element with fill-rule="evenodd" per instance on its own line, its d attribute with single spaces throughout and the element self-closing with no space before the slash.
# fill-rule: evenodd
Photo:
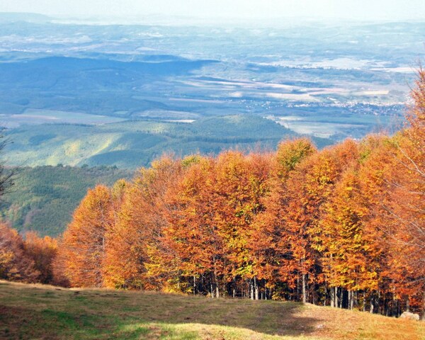
<svg viewBox="0 0 425 340">
<path fill-rule="evenodd" d="M 50 113 L 50 117 L 62 118 L 60 114 Z M 255 115 L 186 122 L 145 119 L 98 125 L 23 125 L 8 130 L 6 135 L 13 143 L 6 149 L 6 164 L 25 167 L 16 179 L 15 190 L 1 202 L 0 217 L 19 232 L 34 230 L 57 236 L 88 188 L 128 179 L 134 169 L 149 166 L 164 153 L 182 157 L 232 148 L 273 149 L 280 140 L 297 136 Z M 319 147 L 330 143 L 318 137 L 314 142 Z"/>
</svg>

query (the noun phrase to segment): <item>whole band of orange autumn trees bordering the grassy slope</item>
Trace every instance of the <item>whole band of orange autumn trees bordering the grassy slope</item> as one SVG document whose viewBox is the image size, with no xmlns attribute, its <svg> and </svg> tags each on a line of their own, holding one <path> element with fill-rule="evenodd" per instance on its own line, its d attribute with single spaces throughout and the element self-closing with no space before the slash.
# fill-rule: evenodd
<svg viewBox="0 0 425 340">
<path fill-rule="evenodd" d="M 318 150 L 164 156 L 90 189 L 57 239 L 0 227 L 0 278 L 291 300 L 387 316 L 425 305 L 425 71 L 406 125 Z"/>
</svg>

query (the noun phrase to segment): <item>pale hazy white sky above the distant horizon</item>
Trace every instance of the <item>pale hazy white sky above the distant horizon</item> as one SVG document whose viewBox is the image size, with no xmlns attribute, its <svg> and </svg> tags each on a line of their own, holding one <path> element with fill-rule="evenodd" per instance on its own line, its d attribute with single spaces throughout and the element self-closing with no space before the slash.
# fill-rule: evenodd
<svg viewBox="0 0 425 340">
<path fill-rule="evenodd" d="M 424 0 L 0 0 L 2 12 L 123 17 L 161 14 L 203 18 L 309 17 L 353 20 L 425 19 Z"/>
</svg>

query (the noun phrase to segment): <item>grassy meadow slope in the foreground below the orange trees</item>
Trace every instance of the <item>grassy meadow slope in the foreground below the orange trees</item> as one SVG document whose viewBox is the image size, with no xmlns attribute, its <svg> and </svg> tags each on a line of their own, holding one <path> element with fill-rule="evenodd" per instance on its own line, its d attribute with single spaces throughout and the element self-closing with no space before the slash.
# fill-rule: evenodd
<svg viewBox="0 0 425 340">
<path fill-rule="evenodd" d="M 0 280 L 0 339 L 425 339 L 425 324 L 294 302 Z"/>
</svg>

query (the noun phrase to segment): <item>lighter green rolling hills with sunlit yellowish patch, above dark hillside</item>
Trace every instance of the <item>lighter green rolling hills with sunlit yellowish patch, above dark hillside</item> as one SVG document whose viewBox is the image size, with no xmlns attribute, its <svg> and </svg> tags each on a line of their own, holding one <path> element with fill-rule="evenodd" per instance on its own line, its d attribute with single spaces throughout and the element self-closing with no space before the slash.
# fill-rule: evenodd
<svg viewBox="0 0 425 340">
<path fill-rule="evenodd" d="M 8 164 L 19 166 L 108 165 L 135 169 L 147 166 L 164 152 L 177 156 L 222 149 L 274 148 L 280 140 L 297 134 L 255 115 L 228 115 L 181 120 L 128 120 L 103 125 L 23 125 L 8 130 L 13 141 Z M 314 138 L 319 147 L 329 140 Z"/>
</svg>

